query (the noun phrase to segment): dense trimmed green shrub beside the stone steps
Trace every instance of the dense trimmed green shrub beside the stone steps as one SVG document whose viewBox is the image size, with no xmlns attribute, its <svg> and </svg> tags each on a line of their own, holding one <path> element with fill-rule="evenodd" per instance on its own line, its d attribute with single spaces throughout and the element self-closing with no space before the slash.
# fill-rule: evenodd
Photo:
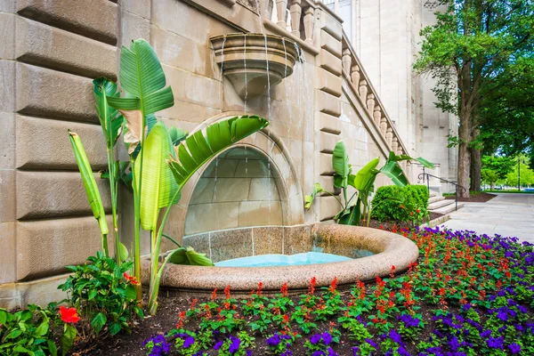
<svg viewBox="0 0 534 356">
<path fill-rule="evenodd" d="M 376 190 L 371 206 L 371 216 L 380 222 L 421 220 L 428 215 L 428 190 L 424 185 L 386 185 Z"/>
</svg>

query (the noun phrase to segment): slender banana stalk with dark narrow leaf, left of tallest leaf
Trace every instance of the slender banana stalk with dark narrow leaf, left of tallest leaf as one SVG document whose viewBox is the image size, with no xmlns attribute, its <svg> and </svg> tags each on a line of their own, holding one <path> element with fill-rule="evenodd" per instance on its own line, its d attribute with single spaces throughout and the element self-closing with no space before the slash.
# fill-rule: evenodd
<svg viewBox="0 0 534 356">
<path fill-rule="evenodd" d="M 128 250 L 120 242 L 117 222 L 118 203 L 118 181 L 119 162 L 115 158 L 115 145 L 122 132 L 124 118 L 119 115 L 118 110 L 111 108 L 108 104 L 107 96 L 118 97 L 117 84 L 101 77 L 93 80 L 94 108 L 100 120 L 101 129 L 106 140 L 106 150 L 108 156 L 108 170 L 101 172 L 101 178 L 109 180 L 109 195 L 111 198 L 111 216 L 113 219 L 113 233 L 115 236 L 115 258 L 117 264 L 128 258 Z"/>
</svg>

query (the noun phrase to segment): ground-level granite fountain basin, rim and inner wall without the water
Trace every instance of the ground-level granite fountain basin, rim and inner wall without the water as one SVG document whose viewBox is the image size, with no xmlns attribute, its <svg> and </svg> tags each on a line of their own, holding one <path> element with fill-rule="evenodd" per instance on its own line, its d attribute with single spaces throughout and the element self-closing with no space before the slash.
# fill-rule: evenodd
<svg viewBox="0 0 534 356">
<path fill-rule="evenodd" d="M 263 282 L 267 294 L 279 292 L 282 284 L 293 293 L 305 290 L 312 277 L 318 286 L 328 286 L 337 277 L 340 285 L 356 280 L 367 281 L 406 271 L 419 255 L 411 240 L 389 231 L 336 224 L 307 224 L 292 227 L 241 228 L 213 231 L 185 237 L 183 244 L 207 253 L 214 262 L 246 255 L 293 255 L 320 249 L 321 252 L 345 255 L 344 262 L 304 264 L 278 267 L 201 267 L 168 264 L 161 279 L 162 295 L 209 294 L 214 288 L 231 286 L 232 295 L 248 295 Z M 361 251 L 374 255 L 360 257 Z M 355 258 L 356 257 L 356 258 Z M 358 258 L 360 257 L 360 258 Z M 150 261 L 142 262 L 142 280 L 149 281 Z"/>
</svg>

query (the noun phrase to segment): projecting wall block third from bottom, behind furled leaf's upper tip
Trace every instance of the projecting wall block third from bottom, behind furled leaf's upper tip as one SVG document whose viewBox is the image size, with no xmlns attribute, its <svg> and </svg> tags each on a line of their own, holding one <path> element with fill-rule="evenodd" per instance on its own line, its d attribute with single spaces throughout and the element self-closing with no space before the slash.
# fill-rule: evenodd
<svg viewBox="0 0 534 356">
<path fill-rule="evenodd" d="M 17 141 L 24 143 L 17 151 L 18 168 L 76 170 L 77 163 L 67 133 L 69 129 L 80 135 L 93 170 L 108 167 L 106 142 L 100 125 L 22 115 L 17 115 L 15 119 Z M 122 142 L 117 142 L 117 145 L 120 144 Z M 39 154 L 36 154 L 36 148 Z"/>
</svg>

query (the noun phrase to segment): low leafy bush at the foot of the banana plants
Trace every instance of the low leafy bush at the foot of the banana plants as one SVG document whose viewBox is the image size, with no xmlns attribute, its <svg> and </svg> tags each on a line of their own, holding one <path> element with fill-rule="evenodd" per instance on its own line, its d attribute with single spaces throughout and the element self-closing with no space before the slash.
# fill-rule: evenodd
<svg viewBox="0 0 534 356">
<path fill-rule="evenodd" d="M 143 316 L 137 305 L 136 283 L 126 271 L 132 263 L 118 265 L 101 252 L 87 258 L 89 263 L 67 266 L 73 274 L 59 288 L 69 295 L 68 303 L 77 308 L 81 323 L 81 335 L 88 341 L 107 334 L 116 335 L 121 330 L 130 331 L 135 314 Z"/>
</svg>

